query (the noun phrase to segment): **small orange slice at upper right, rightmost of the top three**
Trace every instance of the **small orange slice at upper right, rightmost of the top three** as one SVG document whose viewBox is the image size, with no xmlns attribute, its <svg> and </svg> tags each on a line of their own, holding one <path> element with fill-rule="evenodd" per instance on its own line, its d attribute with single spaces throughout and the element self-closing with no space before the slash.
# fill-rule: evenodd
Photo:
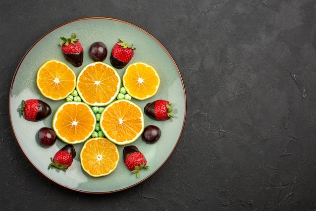
<svg viewBox="0 0 316 211">
<path fill-rule="evenodd" d="M 157 71 L 143 62 L 130 64 L 126 68 L 122 80 L 127 93 L 139 100 L 152 97 L 160 86 Z"/>
</svg>

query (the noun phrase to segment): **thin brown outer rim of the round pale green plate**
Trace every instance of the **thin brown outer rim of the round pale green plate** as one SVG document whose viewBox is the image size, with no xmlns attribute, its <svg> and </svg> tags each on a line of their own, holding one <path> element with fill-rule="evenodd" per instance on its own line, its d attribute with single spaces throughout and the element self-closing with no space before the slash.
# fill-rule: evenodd
<svg viewBox="0 0 316 211">
<path fill-rule="evenodd" d="M 16 75 L 19 71 L 19 68 L 21 66 L 21 64 L 23 63 L 24 59 L 26 58 L 26 56 L 29 54 L 30 50 L 41 40 L 43 39 L 45 36 L 47 36 L 49 33 L 55 31 L 56 29 L 64 26 L 64 25 L 67 25 L 67 24 L 70 24 L 70 23 L 74 23 L 74 22 L 79 22 L 79 21 L 83 21 L 83 20 L 90 20 L 90 19 L 104 19 L 104 20 L 111 20 L 111 21 L 118 21 L 118 22 L 121 22 L 121 23 L 125 23 L 125 24 L 128 24 L 132 27 L 135 27 L 136 29 L 142 31 L 143 33 L 145 33 L 146 35 L 148 35 L 150 38 L 152 38 L 157 44 L 159 44 L 163 50 L 166 52 L 167 56 L 170 58 L 171 62 L 173 63 L 174 67 L 176 68 L 177 72 L 178 72 L 178 75 L 179 75 L 179 79 L 181 81 L 181 84 L 182 84 L 182 89 L 183 89 L 183 97 L 184 97 L 184 116 L 183 116 L 183 123 L 182 123 L 182 128 L 180 130 L 180 134 L 179 134 L 179 137 L 178 137 L 178 140 L 177 142 L 175 143 L 173 149 L 171 150 L 171 153 L 167 156 L 166 160 L 156 169 L 154 170 L 150 175 L 148 175 L 146 178 L 134 183 L 133 185 L 130 185 L 128 187 L 125 187 L 125 188 L 120 188 L 120 189 L 117 189 L 117 190 L 112 190 L 112 191 L 103 191 L 103 192 L 93 192 L 93 191 L 85 191 L 85 190 L 79 190 L 79 189 L 76 189 L 76 188 L 72 188 L 72 187 L 69 187 L 69 186 L 66 186 L 64 184 L 60 184 L 58 183 L 57 181 L 54 181 L 52 180 L 51 178 L 49 178 L 47 175 L 45 175 L 38 167 L 35 166 L 35 164 L 31 161 L 31 159 L 28 157 L 27 153 L 24 151 L 24 149 L 22 148 L 17 136 L 16 136 L 16 133 L 15 133 L 15 130 L 14 130 L 14 126 L 13 126 L 13 121 L 12 121 L 12 112 L 11 112 L 11 95 L 12 95 L 12 88 L 13 88 L 13 85 L 14 85 L 14 81 L 15 81 L 15 78 L 16 78 Z M 123 191 L 123 190 L 126 190 L 126 189 L 129 189 L 129 188 L 132 188 L 134 186 L 137 186 L 139 185 L 140 183 L 144 182 L 145 180 L 149 179 L 150 177 L 152 177 L 158 170 L 160 170 L 165 164 L 166 162 L 170 159 L 171 155 L 174 153 L 176 147 L 178 146 L 179 144 L 179 141 L 181 139 L 181 136 L 182 136 L 182 133 L 183 133 L 183 130 L 184 130 L 184 126 L 185 126 L 185 122 L 186 122 L 186 112 L 187 112 L 187 100 L 186 100 L 186 91 L 185 91 L 185 85 L 184 85 L 184 81 L 183 81 L 183 78 L 182 78 L 182 75 L 180 73 L 180 70 L 179 70 L 179 67 L 177 66 L 176 62 L 174 61 L 174 59 L 172 58 L 172 56 L 170 55 L 169 51 L 166 49 L 166 47 L 159 41 L 157 40 L 153 35 L 151 35 L 149 32 L 147 32 L 146 30 L 142 29 L 141 27 L 133 24 L 133 23 L 130 23 L 128 21 L 125 21 L 125 20 L 122 20 L 122 19 L 117 19 L 117 18 L 112 18 L 112 17 L 102 17 L 102 16 L 92 16 L 92 17 L 84 17 L 84 18 L 78 18 L 78 19 L 73 19 L 71 21 L 67 21 L 63 24 L 60 24 L 54 28 L 52 28 L 51 30 L 49 30 L 48 32 L 44 33 L 40 38 L 38 38 L 29 48 L 28 50 L 25 52 L 25 54 L 23 55 L 23 57 L 21 58 L 15 72 L 14 72 L 14 75 L 12 77 L 12 81 L 11 81 L 11 84 L 10 84 L 10 91 L 9 91 L 9 118 L 10 118 L 10 124 L 11 124 L 11 128 L 12 128 L 12 132 L 13 132 L 13 135 L 14 135 L 14 138 L 16 140 L 16 142 L 18 143 L 20 149 L 22 150 L 23 154 L 25 155 L 26 159 L 28 160 L 28 162 L 42 175 L 44 176 L 45 178 L 47 178 L 49 181 L 55 183 L 55 184 L 58 184 L 59 186 L 61 187 L 64 187 L 68 190 L 73 190 L 73 191 L 76 191 L 76 192 L 81 192 L 81 193 L 90 193 L 90 194 L 108 194 L 108 193 L 114 193 L 114 192 L 120 192 L 120 191 Z"/>
</svg>

